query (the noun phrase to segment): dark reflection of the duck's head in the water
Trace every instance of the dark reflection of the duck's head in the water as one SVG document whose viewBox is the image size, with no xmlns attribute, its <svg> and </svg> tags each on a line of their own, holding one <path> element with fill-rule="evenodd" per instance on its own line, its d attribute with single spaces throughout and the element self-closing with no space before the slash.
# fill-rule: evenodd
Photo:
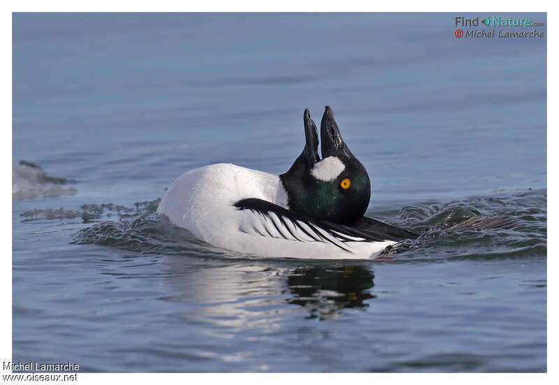
<svg viewBox="0 0 559 385">
<path fill-rule="evenodd" d="M 288 300 L 310 310 L 310 318 L 328 319 L 344 307 L 368 307 L 364 300 L 375 298 L 369 289 L 375 275 L 363 266 L 296 268 L 287 284 L 295 296 Z"/>
</svg>

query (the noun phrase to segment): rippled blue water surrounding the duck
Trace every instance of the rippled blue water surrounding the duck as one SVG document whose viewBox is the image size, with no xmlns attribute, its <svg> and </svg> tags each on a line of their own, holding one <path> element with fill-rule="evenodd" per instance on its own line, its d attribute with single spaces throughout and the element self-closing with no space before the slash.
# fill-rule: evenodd
<svg viewBox="0 0 559 385">
<path fill-rule="evenodd" d="M 546 38 L 457 39 L 454 16 L 15 14 L 13 360 L 545 371 Z M 368 215 L 437 230 L 273 260 L 152 214 L 191 168 L 283 173 L 325 104 Z M 471 215 L 516 226 L 444 231 Z"/>
</svg>

